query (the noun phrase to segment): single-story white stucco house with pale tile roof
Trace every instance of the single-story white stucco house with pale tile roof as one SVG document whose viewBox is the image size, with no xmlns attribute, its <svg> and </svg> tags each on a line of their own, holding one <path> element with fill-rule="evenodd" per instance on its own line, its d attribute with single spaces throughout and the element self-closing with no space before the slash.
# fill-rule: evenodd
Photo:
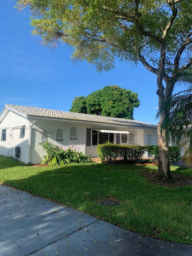
<svg viewBox="0 0 192 256">
<path fill-rule="evenodd" d="M 40 142 L 63 148 L 80 145 L 85 155 L 97 157 L 98 143 L 158 145 L 157 125 L 122 118 L 72 113 L 6 104 L 0 113 L 0 155 L 39 164 L 45 155 Z"/>
</svg>

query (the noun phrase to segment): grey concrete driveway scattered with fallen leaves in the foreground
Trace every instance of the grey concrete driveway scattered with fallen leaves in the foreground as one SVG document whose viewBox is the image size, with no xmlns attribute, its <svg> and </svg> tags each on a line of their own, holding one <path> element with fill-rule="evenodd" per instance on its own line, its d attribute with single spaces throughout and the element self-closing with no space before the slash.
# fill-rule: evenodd
<svg viewBox="0 0 192 256">
<path fill-rule="evenodd" d="M 140 236 L 74 209 L 0 185 L 1 256 L 191 256 L 191 245 Z"/>
</svg>

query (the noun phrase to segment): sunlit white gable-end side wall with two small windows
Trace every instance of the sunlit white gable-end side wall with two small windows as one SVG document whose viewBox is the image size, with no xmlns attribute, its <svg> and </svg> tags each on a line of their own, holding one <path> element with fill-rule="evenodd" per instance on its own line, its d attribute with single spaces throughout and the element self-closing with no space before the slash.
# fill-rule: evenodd
<svg viewBox="0 0 192 256">
<path fill-rule="evenodd" d="M 25 125 L 25 136 L 21 136 L 21 129 L 12 130 L 13 127 Z M 0 129 L 6 129 L 6 140 L 0 140 L 0 155 L 15 156 L 15 148 L 19 146 L 21 155 L 19 161 L 28 163 L 29 150 L 29 125 L 30 122 L 25 117 L 19 116 L 9 111 L 0 124 Z M 0 134 L 1 135 L 1 134 Z M 2 136 L 1 136 L 2 139 Z"/>
</svg>

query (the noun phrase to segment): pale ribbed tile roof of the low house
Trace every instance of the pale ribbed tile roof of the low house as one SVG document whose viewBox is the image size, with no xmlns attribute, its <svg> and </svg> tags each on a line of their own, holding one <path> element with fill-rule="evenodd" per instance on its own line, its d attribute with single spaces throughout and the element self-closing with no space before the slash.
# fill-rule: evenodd
<svg viewBox="0 0 192 256">
<path fill-rule="evenodd" d="M 18 105 L 5 104 L 5 107 L 13 111 L 19 112 L 27 117 L 41 117 L 41 118 L 51 118 L 51 119 L 62 119 L 71 120 L 77 122 L 91 122 L 97 124 L 108 124 L 108 125 L 121 125 L 130 126 L 138 128 L 157 128 L 157 125 L 148 124 L 145 122 L 140 122 L 137 120 L 123 119 L 108 116 L 96 116 L 82 113 L 73 113 L 61 110 L 51 110 L 45 108 L 37 107 L 25 107 Z"/>
</svg>

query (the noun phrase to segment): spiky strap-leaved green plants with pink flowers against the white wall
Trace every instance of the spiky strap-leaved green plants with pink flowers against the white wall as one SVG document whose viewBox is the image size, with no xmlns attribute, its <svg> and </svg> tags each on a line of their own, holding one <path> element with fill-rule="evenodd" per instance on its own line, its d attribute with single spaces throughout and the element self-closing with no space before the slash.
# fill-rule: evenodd
<svg viewBox="0 0 192 256">
<path fill-rule="evenodd" d="M 62 146 L 53 145 L 48 141 L 46 143 L 39 143 L 43 146 L 43 149 L 46 151 L 46 155 L 43 156 L 44 161 L 41 164 L 47 164 L 50 166 L 58 164 L 69 164 L 69 163 L 91 163 L 93 162 L 88 155 L 84 155 L 82 152 L 79 152 L 79 149 L 76 146 L 73 146 L 72 143 L 70 146 L 67 146 L 67 149 L 63 149 Z"/>
</svg>

